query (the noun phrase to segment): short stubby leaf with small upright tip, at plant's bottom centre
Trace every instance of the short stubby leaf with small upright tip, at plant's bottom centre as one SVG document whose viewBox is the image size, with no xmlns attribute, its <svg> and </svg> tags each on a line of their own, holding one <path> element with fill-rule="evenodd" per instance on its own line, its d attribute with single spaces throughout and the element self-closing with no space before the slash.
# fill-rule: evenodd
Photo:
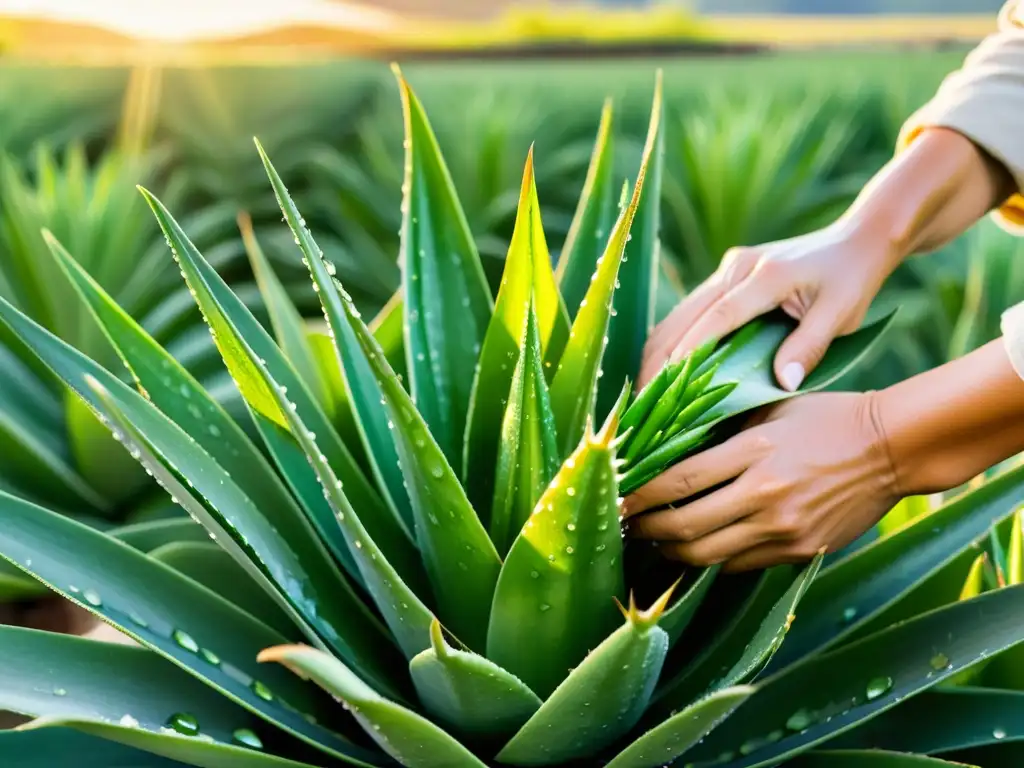
<svg viewBox="0 0 1024 768">
<path fill-rule="evenodd" d="M 439 623 L 431 646 L 410 663 L 423 707 L 455 732 L 486 740 L 508 738 L 541 707 L 526 685 L 475 653 L 451 647 Z"/>
</svg>

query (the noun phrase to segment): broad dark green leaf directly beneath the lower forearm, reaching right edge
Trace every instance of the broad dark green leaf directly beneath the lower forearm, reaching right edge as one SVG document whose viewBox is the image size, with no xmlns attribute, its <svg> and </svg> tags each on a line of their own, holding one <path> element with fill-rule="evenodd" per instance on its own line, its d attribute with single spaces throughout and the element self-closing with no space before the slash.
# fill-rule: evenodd
<svg viewBox="0 0 1024 768">
<path fill-rule="evenodd" d="M 893 611 L 900 611 L 904 600 L 912 602 L 919 585 L 962 556 L 974 559 L 972 544 L 1010 518 L 1022 495 L 1024 467 L 1019 467 L 826 568 L 804 599 L 803 620 L 772 668 L 893 624 Z M 912 615 L 900 613 L 900 618 Z"/>
</svg>

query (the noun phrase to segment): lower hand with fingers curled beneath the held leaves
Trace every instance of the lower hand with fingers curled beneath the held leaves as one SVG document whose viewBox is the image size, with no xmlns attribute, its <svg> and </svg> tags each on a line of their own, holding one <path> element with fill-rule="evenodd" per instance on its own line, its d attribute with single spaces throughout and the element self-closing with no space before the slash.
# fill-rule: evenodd
<svg viewBox="0 0 1024 768">
<path fill-rule="evenodd" d="M 749 570 L 840 549 L 899 500 L 874 393 L 803 395 L 755 419 L 630 496 L 629 535 L 672 559 Z"/>
</svg>

